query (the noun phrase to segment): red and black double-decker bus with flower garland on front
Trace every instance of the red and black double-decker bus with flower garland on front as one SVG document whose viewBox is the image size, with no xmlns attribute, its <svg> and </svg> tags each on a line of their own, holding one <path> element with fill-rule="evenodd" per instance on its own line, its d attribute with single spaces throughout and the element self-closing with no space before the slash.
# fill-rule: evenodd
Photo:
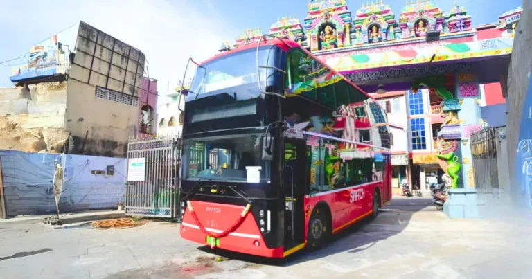
<svg viewBox="0 0 532 279">
<path fill-rule="evenodd" d="M 391 199 L 390 135 L 364 91 L 296 42 L 265 37 L 198 64 L 184 109 L 180 232 L 283 258 L 378 215 Z"/>
</svg>

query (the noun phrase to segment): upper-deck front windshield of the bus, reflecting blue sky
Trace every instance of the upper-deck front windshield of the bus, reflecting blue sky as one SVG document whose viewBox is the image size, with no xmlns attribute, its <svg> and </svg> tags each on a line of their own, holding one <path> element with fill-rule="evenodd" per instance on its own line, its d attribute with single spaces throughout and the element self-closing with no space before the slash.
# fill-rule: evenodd
<svg viewBox="0 0 532 279">
<path fill-rule="evenodd" d="M 278 46 L 263 46 L 258 53 L 259 64 L 281 68 L 282 53 Z M 263 88 L 276 82 L 276 77 L 282 78 L 282 75 L 273 69 L 260 69 Z M 231 95 L 236 96 L 237 101 L 260 96 L 256 48 L 224 55 L 199 66 L 190 85 L 187 101 L 227 93 L 228 89 L 231 89 Z"/>
</svg>

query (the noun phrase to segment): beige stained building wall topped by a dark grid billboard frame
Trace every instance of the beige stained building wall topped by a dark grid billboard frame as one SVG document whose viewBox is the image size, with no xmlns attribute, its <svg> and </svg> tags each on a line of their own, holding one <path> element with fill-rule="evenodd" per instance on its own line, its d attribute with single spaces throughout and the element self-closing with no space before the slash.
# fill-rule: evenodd
<svg viewBox="0 0 532 279">
<path fill-rule="evenodd" d="M 80 24 L 67 87 L 70 153 L 125 156 L 139 125 L 144 60 L 136 48 Z"/>
</svg>

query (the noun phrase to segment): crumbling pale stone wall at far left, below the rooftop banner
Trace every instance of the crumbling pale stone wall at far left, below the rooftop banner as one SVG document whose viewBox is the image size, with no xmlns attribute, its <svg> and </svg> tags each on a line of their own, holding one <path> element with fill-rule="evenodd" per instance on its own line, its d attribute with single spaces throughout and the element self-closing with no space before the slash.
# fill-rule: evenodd
<svg viewBox="0 0 532 279">
<path fill-rule="evenodd" d="M 67 82 L 0 89 L 0 149 L 62 152 Z"/>
</svg>

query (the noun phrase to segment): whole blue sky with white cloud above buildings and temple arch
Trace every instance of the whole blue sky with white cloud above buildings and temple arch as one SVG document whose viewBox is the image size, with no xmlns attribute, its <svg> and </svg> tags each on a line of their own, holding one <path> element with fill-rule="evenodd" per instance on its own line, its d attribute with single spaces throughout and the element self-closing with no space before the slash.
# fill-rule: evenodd
<svg viewBox="0 0 532 279">
<path fill-rule="evenodd" d="M 451 0 L 431 1 L 444 12 L 453 5 Z M 162 94 L 167 88 L 172 91 L 182 78 L 188 57 L 205 60 L 225 39 L 232 44 L 245 28 L 260 27 L 267 33 L 278 17 L 296 15 L 303 21 L 308 10 L 307 0 L 55 0 L 52 6 L 48 1 L 23 2 L 0 0 L 0 37 L 4 42 L 0 44 L 0 62 L 19 57 L 46 37 L 82 20 L 141 49 L 148 59 L 150 77 L 159 79 Z M 468 10 L 474 26 L 496 22 L 503 12 L 522 6 L 521 0 L 456 2 Z M 362 1 L 347 3 L 354 17 Z M 405 0 L 384 3 L 398 19 Z M 71 28 L 59 37 L 66 41 L 75 33 Z M 0 87 L 12 87 L 10 65 L 20 62 L 0 64 Z"/>
</svg>

